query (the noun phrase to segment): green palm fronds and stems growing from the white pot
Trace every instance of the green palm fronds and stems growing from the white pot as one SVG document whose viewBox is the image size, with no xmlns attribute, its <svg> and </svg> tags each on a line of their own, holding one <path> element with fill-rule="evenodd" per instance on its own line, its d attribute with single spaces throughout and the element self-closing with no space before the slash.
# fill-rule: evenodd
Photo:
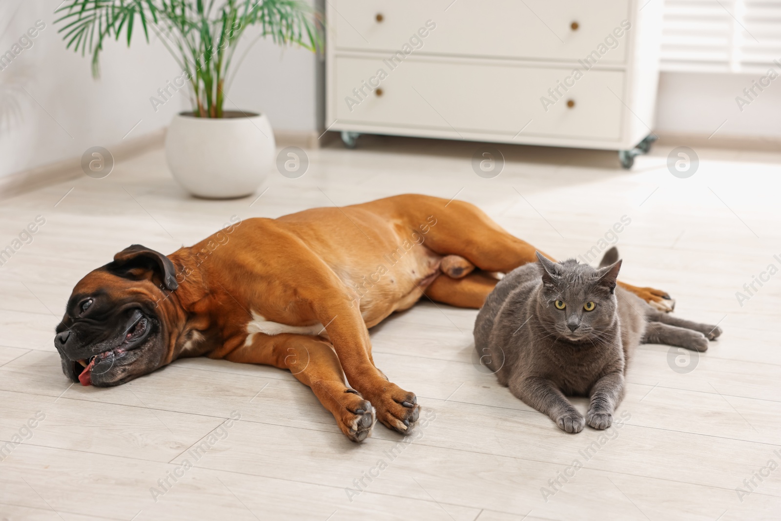
<svg viewBox="0 0 781 521">
<path fill-rule="evenodd" d="M 202 117 L 223 116 L 226 77 L 247 27 L 278 45 L 323 45 L 322 19 L 301 0 L 66 0 L 56 12 L 66 48 L 91 53 L 95 77 L 103 42 L 124 36 L 130 46 L 137 17 L 146 41 L 152 30 L 190 77 Z"/>
</svg>

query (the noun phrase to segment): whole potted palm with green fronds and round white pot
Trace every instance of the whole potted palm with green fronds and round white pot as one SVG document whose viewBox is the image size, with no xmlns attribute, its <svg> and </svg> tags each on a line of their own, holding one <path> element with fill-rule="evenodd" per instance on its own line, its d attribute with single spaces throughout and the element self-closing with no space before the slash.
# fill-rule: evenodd
<svg viewBox="0 0 781 521">
<path fill-rule="evenodd" d="M 253 193 L 273 165 L 274 134 L 264 114 L 223 108 L 234 53 L 244 31 L 279 45 L 297 44 L 316 52 L 322 42 L 320 17 L 301 0 L 66 0 L 55 23 L 66 41 L 92 56 L 99 76 L 105 41 L 127 38 L 139 27 L 149 41 L 157 34 L 182 73 L 192 110 L 175 116 L 166 135 L 166 159 L 180 184 L 206 198 Z M 254 43 L 254 42 L 253 42 Z M 246 55 L 246 53 L 244 54 Z"/>
</svg>

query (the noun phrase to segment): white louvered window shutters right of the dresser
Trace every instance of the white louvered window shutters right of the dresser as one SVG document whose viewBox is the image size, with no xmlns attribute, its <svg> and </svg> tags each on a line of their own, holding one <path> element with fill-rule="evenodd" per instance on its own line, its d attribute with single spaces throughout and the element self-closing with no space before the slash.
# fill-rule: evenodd
<svg viewBox="0 0 781 521">
<path fill-rule="evenodd" d="M 778 0 L 666 0 L 662 70 L 754 73 L 781 61 Z"/>
</svg>

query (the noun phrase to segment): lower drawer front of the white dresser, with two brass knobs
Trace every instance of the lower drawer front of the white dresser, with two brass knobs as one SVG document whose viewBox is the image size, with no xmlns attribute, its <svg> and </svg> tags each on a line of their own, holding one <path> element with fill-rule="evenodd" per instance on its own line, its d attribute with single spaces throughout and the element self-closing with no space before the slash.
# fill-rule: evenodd
<svg viewBox="0 0 781 521">
<path fill-rule="evenodd" d="M 621 136 L 621 71 L 587 70 L 575 80 L 572 67 L 563 66 L 407 58 L 391 70 L 380 58 L 339 56 L 333 67 L 330 113 L 340 123 L 445 130 L 455 138 L 458 131 L 512 137 L 522 129 L 526 135 L 589 140 Z M 380 70 L 387 77 L 371 91 Z M 563 96 L 556 95 L 557 101 L 548 89 L 559 81 L 573 86 L 566 92 L 559 87 Z"/>
</svg>

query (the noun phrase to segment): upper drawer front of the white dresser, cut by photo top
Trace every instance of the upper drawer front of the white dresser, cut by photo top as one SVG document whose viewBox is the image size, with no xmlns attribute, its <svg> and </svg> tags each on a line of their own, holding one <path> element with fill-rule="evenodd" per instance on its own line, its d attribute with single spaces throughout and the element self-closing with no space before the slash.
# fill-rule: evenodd
<svg viewBox="0 0 781 521">
<path fill-rule="evenodd" d="M 394 53 L 408 44 L 424 54 L 573 61 L 601 49 L 604 63 L 627 55 L 629 0 L 332 1 L 342 50 Z M 617 27 L 621 37 L 605 45 Z"/>
</svg>

